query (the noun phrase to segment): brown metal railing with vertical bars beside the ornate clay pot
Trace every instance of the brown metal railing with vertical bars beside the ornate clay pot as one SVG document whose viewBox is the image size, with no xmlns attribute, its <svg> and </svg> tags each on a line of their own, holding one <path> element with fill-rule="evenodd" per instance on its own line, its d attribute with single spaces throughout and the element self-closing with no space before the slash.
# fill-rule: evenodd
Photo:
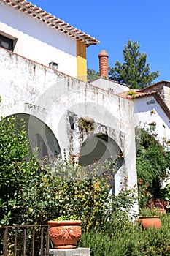
<svg viewBox="0 0 170 256">
<path fill-rule="evenodd" d="M 49 256 L 49 225 L 0 227 L 3 256 Z M 45 250 L 43 250 L 45 248 Z M 45 254 L 43 254 L 45 252 Z"/>
</svg>

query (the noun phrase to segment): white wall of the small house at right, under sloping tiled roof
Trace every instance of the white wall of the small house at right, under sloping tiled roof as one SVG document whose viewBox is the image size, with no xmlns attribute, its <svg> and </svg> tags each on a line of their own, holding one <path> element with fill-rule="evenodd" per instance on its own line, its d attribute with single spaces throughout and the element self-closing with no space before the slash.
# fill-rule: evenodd
<svg viewBox="0 0 170 256">
<path fill-rule="evenodd" d="M 151 100 L 155 101 L 152 104 L 147 104 Z M 155 110 L 155 113 L 150 113 L 150 110 Z M 162 143 L 163 137 L 166 136 L 167 140 L 170 140 L 170 123 L 169 117 L 163 111 L 161 106 L 158 104 L 153 96 L 142 97 L 135 100 L 134 103 L 134 116 L 135 116 L 135 126 L 141 126 L 149 128 L 150 123 L 156 122 L 155 132 L 158 134 L 156 138 Z"/>
</svg>

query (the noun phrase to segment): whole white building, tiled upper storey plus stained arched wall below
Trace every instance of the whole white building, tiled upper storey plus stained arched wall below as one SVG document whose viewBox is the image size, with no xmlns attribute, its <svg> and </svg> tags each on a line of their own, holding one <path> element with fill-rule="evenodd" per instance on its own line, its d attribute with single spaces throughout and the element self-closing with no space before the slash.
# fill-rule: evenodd
<svg viewBox="0 0 170 256">
<path fill-rule="evenodd" d="M 134 105 L 101 84 L 86 83 L 86 48 L 96 43 L 25 0 L 0 0 L 1 116 L 26 121 L 40 157 L 66 151 L 82 154 L 82 164 L 89 165 L 123 154 L 117 195 L 137 183 Z"/>
</svg>

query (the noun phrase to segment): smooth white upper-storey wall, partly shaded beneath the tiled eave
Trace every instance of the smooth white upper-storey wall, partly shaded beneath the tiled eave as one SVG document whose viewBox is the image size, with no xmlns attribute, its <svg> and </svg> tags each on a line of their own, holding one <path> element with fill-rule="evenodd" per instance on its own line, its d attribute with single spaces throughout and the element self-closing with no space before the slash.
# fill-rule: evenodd
<svg viewBox="0 0 170 256">
<path fill-rule="evenodd" d="M 0 34 L 17 39 L 14 53 L 38 63 L 58 63 L 58 71 L 77 76 L 76 40 L 0 2 Z"/>
</svg>

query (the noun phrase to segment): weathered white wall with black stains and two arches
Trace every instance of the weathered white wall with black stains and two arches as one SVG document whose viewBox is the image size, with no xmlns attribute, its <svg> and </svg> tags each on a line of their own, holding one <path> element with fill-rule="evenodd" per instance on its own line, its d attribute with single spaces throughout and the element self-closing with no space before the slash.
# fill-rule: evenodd
<svg viewBox="0 0 170 256">
<path fill-rule="evenodd" d="M 115 193 L 136 184 L 133 102 L 76 80 L 0 48 L 1 116 L 25 113 L 47 124 L 61 152 L 79 154 L 83 141 L 77 121 L 92 118 L 94 134 L 107 134 L 123 152 L 125 162 L 115 176 Z M 71 129 L 69 116 L 73 116 Z M 122 182 L 122 184 L 121 184 Z"/>
</svg>

